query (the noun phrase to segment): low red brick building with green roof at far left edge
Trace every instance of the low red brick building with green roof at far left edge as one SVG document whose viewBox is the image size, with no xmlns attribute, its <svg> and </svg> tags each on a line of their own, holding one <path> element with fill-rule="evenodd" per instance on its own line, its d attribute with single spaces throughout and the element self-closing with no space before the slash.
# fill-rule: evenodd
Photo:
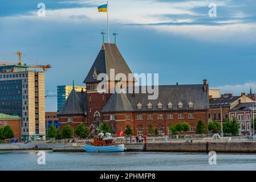
<svg viewBox="0 0 256 182">
<path fill-rule="evenodd" d="M 0 128 L 10 126 L 13 129 L 14 138 L 21 141 L 21 117 L 0 113 Z"/>
</svg>

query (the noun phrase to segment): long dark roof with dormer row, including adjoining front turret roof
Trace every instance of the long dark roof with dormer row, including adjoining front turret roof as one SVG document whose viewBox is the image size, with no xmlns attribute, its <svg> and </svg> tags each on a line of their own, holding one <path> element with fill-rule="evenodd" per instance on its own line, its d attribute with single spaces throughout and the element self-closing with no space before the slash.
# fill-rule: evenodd
<svg viewBox="0 0 256 182">
<path fill-rule="evenodd" d="M 124 105 L 126 108 L 132 107 L 133 111 L 207 110 L 209 109 L 209 96 L 208 91 L 205 92 L 203 90 L 203 86 L 161 85 L 159 86 L 159 97 L 156 100 L 148 100 L 149 93 L 113 93 L 105 105 L 103 112 L 128 111 L 123 109 Z M 141 90 L 142 87 L 144 86 L 139 86 L 139 89 Z M 129 102 L 126 99 L 116 99 L 121 98 L 122 94 L 127 96 Z M 193 107 L 188 106 L 190 101 L 194 104 Z M 142 104 L 141 109 L 137 109 L 139 102 Z M 152 109 L 148 109 L 147 105 L 149 102 L 152 104 Z M 159 102 L 161 102 L 162 108 L 157 107 Z M 172 108 L 168 108 L 169 102 L 173 104 Z M 182 108 L 178 108 L 179 102 L 182 102 Z"/>
</svg>

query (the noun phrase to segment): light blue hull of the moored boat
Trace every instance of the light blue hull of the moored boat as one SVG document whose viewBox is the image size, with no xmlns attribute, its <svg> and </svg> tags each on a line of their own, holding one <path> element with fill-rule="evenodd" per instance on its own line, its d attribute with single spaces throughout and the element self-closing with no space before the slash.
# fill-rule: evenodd
<svg viewBox="0 0 256 182">
<path fill-rule="evenodd" d="M 124 144 L 115 144 L 113 146 L 91 146 L 84 144 L 86 152 L 123 152 L 125 150 Z"/>
</svg>

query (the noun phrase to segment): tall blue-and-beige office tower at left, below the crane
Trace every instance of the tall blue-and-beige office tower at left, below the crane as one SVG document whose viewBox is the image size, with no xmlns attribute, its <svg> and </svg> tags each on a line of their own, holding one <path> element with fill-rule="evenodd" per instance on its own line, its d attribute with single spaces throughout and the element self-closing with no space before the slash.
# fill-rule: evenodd
<svg viewBox="0 0 256 182">
<path fill-rule="evenodd" d="M 44 72 L 28 68 L 42 66 L 0 64 L 0 113 L 22 118 L 23 140 L 45 139 Z"/>
</svg>

